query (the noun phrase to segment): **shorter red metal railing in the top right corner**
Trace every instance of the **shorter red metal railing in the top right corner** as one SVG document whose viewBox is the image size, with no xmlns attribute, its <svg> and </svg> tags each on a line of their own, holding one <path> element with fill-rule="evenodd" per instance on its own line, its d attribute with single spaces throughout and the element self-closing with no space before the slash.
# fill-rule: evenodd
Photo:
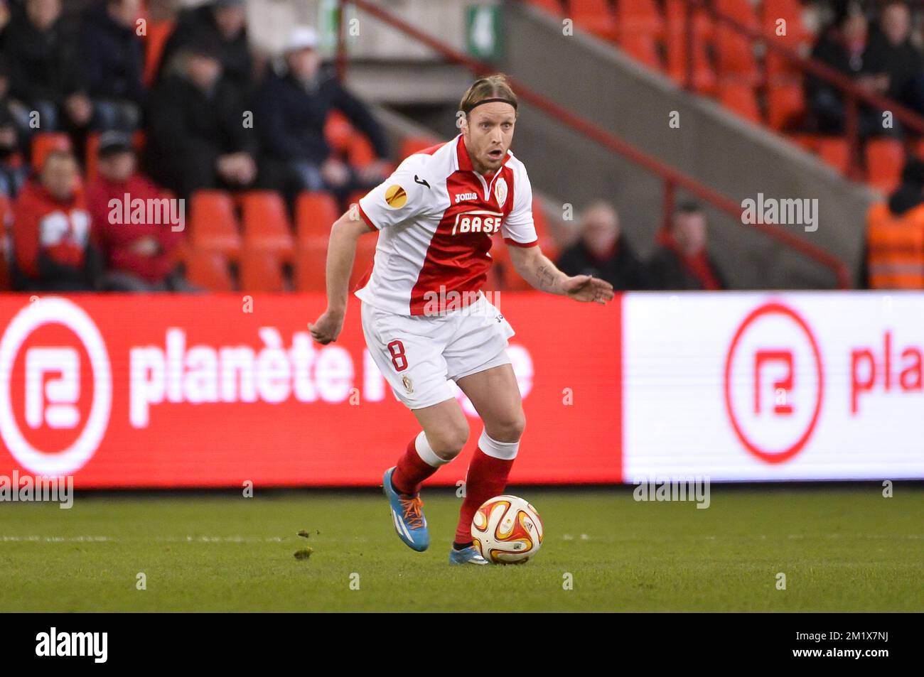
<svg viewBox="0 0 924 677">
<path fill-rule="evenodd" d="M 797 50 L 790 47 L 784 47 L 784 45 L 777 42 L 777 38 L 774 34 L 764 33 L 761 30 L 751 28 L 750 26 L 738 21 L 736 18 L 729 17 L 717 9 L 711 0 L 684 0 L 683 20 L 685 22 L 684 26 L 687 35 L 687 42 L 684 45 L 684 48 L 687 51 L 687 81 L 684 83 L 684 85 L 687 91 L 694 90 L 693 59 L 694 50 L 696 49 L 693 38 L 695 20 L 693 18 L 694 9 L 701 9 L 705 11 L 711 17 L 713 23 L 727 26 L 728 28 L 736 31 L 736 33 L 739 35 L 748 38 L 748 40 L 751 42 L 760 42 L 766 49 L 784 56 L 788 61 L 792 62 L 792 64 L 796 66 L 798 70 L 802 71 L 803 76 L 806 74 L 815 76 L 816 78 L 822 79 L 825 82 L 833 85 L 844 93 L 846 104 L 844 127 L 848 146 L 847 153 L 849 158 L 847 174 L 851 178 L 859 178 L 859 122 L 857 108 L 860 103 L 868 103 L 870 106 L 880 111 L 890 111 L 894 115 L 894 118 L 902 122 L 904 125 L 906 125 L 906 127 L 918 133 L 924 134 L 924 116 L 918 115 L 911 109 L 906 108 L 901 103 L 898 103 L 892 99 L 864 90 L 859 85 L 857 85 L 856 82 L 845 76 L 840 71 L 822 63 L 821 61 L 818 61 L 817 59 L 803 56 L 802 54 L 799 54 Z M 768 79 L 766 77 L 766 64 L 767 60 L 765 58 L 765 83 Z"/>
</svg>

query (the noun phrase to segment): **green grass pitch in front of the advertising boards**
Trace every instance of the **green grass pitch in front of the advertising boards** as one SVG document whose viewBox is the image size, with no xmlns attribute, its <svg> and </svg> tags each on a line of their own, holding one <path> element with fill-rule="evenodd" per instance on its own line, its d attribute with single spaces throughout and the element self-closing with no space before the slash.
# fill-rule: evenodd
<svg viewBox="0 0 924 677">
<path fill-rule="evenodd" d="M 887 499 L 873 484 L 713 484 L 706 510 L 631 489 L 513 490 L 545 540 L 525 565 L 490 567 L 446 562 L 448 490 L 424 491 L 424 553 L 371 491 L 3 503 L 0 611 L 924 611 L 920 485 Z"/>
</svg>

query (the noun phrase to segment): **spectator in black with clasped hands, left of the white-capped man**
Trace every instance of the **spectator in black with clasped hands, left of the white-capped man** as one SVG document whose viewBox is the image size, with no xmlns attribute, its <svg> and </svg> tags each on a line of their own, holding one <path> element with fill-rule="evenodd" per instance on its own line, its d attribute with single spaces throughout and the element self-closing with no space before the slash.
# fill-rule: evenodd
<svg viewBox="0 0 924 677">
<path fill-rule="evenodd" d="M 257 143 L 237 89 L 222 77 L 219 46 L 202 33 L 180 50 L 152 92 L 152 178 L 181 198 L 200 188 L 243 188 L 257 178 Z"/>
</svg>

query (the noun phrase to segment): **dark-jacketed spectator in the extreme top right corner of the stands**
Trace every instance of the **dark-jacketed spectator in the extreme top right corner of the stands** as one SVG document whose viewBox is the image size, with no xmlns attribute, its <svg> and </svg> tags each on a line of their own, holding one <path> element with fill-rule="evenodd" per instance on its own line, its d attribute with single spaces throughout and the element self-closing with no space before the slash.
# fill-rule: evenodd
<svg viewBox="0 0 924 677">
<path fill-rule="evenodd" d="M 911 12 L 904 2 L 892 0 L 882 6 L 878 26 L 869 34 L 863 62 L 869 73 L 887 79 L 886 96 L 924 111 L 924 59 L 911 42 Z"/>
</svg>

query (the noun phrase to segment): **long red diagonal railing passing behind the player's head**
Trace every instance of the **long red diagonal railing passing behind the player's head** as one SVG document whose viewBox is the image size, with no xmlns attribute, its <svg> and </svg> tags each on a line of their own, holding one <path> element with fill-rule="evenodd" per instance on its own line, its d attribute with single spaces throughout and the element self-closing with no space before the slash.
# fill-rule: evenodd
<svg viewBox="0 0 924 677">
<path fill-rule="evenodd" d="M 473 59 L 467 54 L 457 52 L 451 47 L 446 46 L 444 42 L 440 41 L 438 38 L 434 38 L 432 35 L 419 30 L 416 26 L 413 26 L 404 19 L 395 17 L 395 15 L 383 9 L 383 7 L 374 5 L 367 0 L 338 0 L 339 18 L 343 18 L 343 8 L 347 4 L 352 4 L 359 7 L 359 9 L 370 14 L 372 17 L 380 19 L 383 23 L 388 24 L 396 30 L 400 30 L 405 35 L 413 38 L 417 42 L 421 42 L 422 44 L 427 45 L 434 52 L 443 56 L 447 61 L 459 66 L 465 66 L 476 75 L 485 75 L 496 70 L 495 66 L 484 63 L 477 59 Z M 344 33 L 341 29 L 338 32 L 337 42 L 337 54 L 339 56 L 338 68 L 340 69 L 341 75 L 346 72 L 346 49 L 344 46 L 344 39 Z M 651 174 L 659 176 L 663 181 L 664 190 L 664 224 L 668 223 L 668 220 L 674 211 L 675 190 L 677 187 L 681 187 L 702 201 L 711 204 L 719 211 L 730 215 L 736 220 L 736 223 L 742 224 L 742 226 L 744 226 L 741 220 L 742 209 L 740 205 L 738 205 L 734 200 L 729 199 L 718 191 L 699 183 L 695 179 L 687 176 L 683 172 L 676 170 L 674 167 L 671 167 L 667 163 L 663 163 L 648 153 L 638 150 L 625 140 L 619 139 L 602 127 L 598 127 L 597 125 L 591 123 L 588 120 L 585 120 L 579 115 L 575 115 L 570 110 L 559 105 L 558 103 L 554 103 L 538 92 L 529 89 L 529 87 L 526 85 L 517 82 L 516 79 L 511 78 L 510 82 L 514 90 L 517 91 L 517 96 L 521 101 L 525 101 L 531 105 L 534 105 L 546 115 L 550 115 L 551 117 L 557 119 L 560 123 L 564 124 L 565 127 L 570 127 L 587 139 L 596 141 L 604 148 L 607 148 L 623 156 L 629 162 L 638 164 L 639 166 L 649 171 Z M 833 256 L 833 254 L 827 250 L 805 242 L 804 240 L 792 235 L 788 231 L 784 230 L 784 228 L 781 228 L 777 225 L 750 224 L 749 227 L 759 230 L 765 236 L 768 236 L 771 239 L 784 245 L 784 247 L 794 249 L 803 256 L 818 261 L 822 266 L 833 272 L 834 277 L 837 280 L 836 284 L 839 288 L 846 289 L 850 287 L 850 272 L 848 272 L 844 261 Z"/>
</svg>

